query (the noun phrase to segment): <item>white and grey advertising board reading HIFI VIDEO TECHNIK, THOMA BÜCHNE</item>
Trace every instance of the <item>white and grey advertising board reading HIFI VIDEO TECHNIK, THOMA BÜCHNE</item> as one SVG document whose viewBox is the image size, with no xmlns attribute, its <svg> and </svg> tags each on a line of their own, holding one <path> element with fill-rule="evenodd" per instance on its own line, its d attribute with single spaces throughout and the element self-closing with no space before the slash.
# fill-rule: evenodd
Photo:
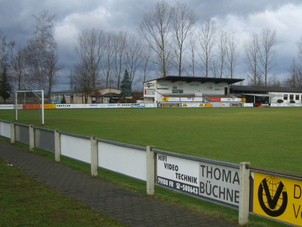
<svg viewBox="0 0 302 227">
<path fill-rule="evenodd" d="M 220 204 L 239 206 L 239 167 L 157 154 L 157 183 Z"/>
</svg>

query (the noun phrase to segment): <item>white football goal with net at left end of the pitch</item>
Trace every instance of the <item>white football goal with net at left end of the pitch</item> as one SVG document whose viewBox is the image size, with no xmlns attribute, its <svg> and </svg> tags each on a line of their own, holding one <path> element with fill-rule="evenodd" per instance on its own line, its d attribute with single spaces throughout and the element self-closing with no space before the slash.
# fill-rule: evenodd
<svg viewBox="0 0 302 227">
<path fill-rule="evenodd" d="M 44 90 L 17 90 L 13 93 L 14 117 L 18 119 L 18 109 L 38 109 L 41 124 L 44 124 Z"/>
</svg>

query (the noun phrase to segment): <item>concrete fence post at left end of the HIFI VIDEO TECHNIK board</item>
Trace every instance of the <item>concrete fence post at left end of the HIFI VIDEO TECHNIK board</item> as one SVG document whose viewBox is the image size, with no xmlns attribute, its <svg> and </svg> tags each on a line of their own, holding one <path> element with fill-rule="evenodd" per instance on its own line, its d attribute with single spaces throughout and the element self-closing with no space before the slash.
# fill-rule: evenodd
<svg viewBox="0 0 302 227">
<path fill-rule="evenodd" d="M 146 146 L 147 151 L 147 194 L 154 194 L 154 151 L 151 150 L 154 146 Z"/>
</svg>

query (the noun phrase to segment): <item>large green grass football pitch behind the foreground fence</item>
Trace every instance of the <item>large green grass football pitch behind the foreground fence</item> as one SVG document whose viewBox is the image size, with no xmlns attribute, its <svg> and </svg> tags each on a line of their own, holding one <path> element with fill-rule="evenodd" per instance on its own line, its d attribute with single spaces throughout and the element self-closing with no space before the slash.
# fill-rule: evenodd
<svg viewBox="0 0 302 227">
<path fill-rule="evenodd" d="M 38 111 L 19 110 L 17 122 L 40 126 Z M 43 127 L 302 174 L 299 107 L 45 109 Z"/>
</svg>

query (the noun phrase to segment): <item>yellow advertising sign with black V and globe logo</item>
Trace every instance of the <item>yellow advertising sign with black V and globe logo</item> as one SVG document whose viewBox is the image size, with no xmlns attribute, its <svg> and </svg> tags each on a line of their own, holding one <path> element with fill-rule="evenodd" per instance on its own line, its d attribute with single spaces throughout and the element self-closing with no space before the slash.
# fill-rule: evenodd
<svg viewBox="0 0 302 227">
<path fill-rule="evenodd" d="M 302 181 L 254 173 L 253 212 L 302 226 Z"/>
</svg>

